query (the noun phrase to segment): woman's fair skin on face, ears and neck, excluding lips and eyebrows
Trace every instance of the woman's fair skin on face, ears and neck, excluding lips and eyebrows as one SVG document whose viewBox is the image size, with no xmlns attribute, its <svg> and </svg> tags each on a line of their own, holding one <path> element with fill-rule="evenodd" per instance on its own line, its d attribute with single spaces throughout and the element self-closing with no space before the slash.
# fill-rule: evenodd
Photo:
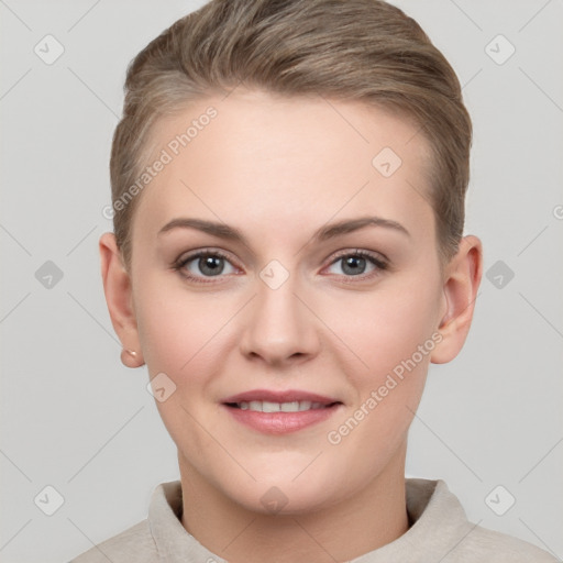
<svg viewBox="0 0 563 563">
<path fill-rule="evenodd" d="M 123 347 L 136 352 L 122 360 L 176 385 L 156 406 L 178 448 L 181 523 L 200 543 L 232 562 L 272 553 L 280 562 L 350 560 L 408 529 L 408 428 L 429 363 L 454 358 L 467 335 L 481 242 L 465 236 L 440 263 L 428 145 L 415 124 L 360 102 L 238 88 L 159 122 L 155 154 L 209 106 L 217 118 L 139 196 L 129 271 L 113 234 L 100 239 L 111 320 Z M 390 177 L 372 165 L 383 147 L 402 159 Z M 408 234 L 379 225 L 313 240 L 328 222 L 366 216 Z M 227 223 L 247 244 L 194 229 L 158 234 L 183 217 Z M 388 267 L 366 260 L 351 274 L 342 258 L 358 249 L 385 256 Z M 219 276 L 198 258 L 184 267 L 210 283 L 173 267 L 197 250 L 229 257 Z M 260 276 L 273 260 L 289 276 L 277 289 Z M 432 334 L 433 350 L 330 443 L 328 433 Z M 256 388 L 308 390 L 343 405 L 298 432 L 263 434 L 221 406 Z M 276 514 L 261 501 L 272 487 L 287 500 Z"/>
</svg>

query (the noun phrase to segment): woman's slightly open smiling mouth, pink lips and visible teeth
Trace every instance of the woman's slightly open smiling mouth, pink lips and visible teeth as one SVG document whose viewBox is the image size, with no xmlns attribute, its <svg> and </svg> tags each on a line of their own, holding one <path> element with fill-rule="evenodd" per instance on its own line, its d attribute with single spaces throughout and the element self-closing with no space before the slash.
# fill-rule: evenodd
<svg viewBox="0 0 563 563">
<path fill-rule="evenodd" d="M 253 430 L 285 434 L 327 420 L 343 402 L 308 391 L 256 389 L 229 397 L 222 406 L 235 421 Z"/>
</svg>

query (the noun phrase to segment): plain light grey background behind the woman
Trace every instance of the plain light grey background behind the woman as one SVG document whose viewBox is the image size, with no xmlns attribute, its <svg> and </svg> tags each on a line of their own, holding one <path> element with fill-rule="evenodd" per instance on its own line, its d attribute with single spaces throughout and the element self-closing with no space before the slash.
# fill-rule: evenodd
<svg viewBox="0 0 563 563">
<path fill-rule="evenodd" d="M 120 364 L 97 242 L 111 230 L 101 210 L 126 64 L 201 3 L 0 1 L 3 562 L 68 561 L 144 519 L 154 487 L 178 478 L 146 369 Z M 407 471 L 445 479 L 474 522 L 561 559 L 563 3 L 396 3 L 464 85 L 466 232 L 482 238 L 492 278 L 463 352 L 431 367 Z M 52 65 L 34 53 L 46 34 L 65 48 Z M 498 34 L 516 48 L 504 64 L 486 51 Z M 35 277 L 47 261 L 63 273 L 51 288 Z M 498 261 L 504 274 L 490 272 Z M 34 503 L 47 485 L 64 497 L 53 516 Z M 498 485 L 497 510 L 516 498 L 504 516 L 485 501 Z"/>
</svg>

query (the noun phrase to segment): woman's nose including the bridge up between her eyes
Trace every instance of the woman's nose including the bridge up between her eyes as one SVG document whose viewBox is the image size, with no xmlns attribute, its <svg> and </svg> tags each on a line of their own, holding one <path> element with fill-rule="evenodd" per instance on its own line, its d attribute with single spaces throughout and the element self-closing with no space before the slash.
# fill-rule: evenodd
<svg viewBox="0 0 563 563">
<path fill-rule="evenodd" d="M 298 282 L 297 274 L 290 274 L 277 261 L 260 273 L 257 295 L 252 300 L 241 340 L 245 354 L 279 363 L 314 353 L 318 345 L 314 316 L 296 295 Z"/>
</svg>

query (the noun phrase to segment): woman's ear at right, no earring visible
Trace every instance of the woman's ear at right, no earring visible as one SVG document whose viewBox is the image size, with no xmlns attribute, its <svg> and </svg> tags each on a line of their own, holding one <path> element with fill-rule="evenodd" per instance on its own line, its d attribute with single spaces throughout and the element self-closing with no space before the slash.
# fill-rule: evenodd
<svg viewBox="0 0 563 563">
<path fill-rule="evenodd" d="M 451 362 L 463 347 L 473 320 L 482 275 L 481 241 L 473 235 L 464 236 L 460 242 L 460 250 L 445 267 L 444 312 L 438 328 L 442 340 L 430 356 L 432 363 Z"/>
</svg>

